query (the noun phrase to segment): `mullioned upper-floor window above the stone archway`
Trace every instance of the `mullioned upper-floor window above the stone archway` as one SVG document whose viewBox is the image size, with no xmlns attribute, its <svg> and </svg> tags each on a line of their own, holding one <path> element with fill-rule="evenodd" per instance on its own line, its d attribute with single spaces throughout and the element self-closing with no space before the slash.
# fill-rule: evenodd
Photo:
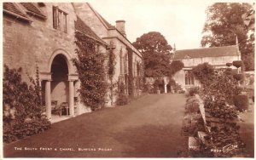
<svg viewBox="0 0 256 160">
<path fill-rule="evenodd" d="M 58 7 L 53 7 L 53 27 L 56 30 L 67 32 L 67 13 Z"/>
</svg>

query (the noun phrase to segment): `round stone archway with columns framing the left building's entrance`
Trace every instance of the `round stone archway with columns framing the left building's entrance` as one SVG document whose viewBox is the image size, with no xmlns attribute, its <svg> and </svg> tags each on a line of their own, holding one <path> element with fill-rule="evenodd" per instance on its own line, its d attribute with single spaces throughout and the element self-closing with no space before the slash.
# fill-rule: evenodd
<svg viewBox="0 0 256 160">
<path fill-rule="evenodd" d="M 46 116 L 51 119 L 52 107 L 67 104 L 69 116 L 74 116 L 74 82 L 78 75 L 74 73 L 71 57 L 62 49 L 56 50 L 49 59 L 48 71 L 41 72 L 42 89 Z"/>
</svg>

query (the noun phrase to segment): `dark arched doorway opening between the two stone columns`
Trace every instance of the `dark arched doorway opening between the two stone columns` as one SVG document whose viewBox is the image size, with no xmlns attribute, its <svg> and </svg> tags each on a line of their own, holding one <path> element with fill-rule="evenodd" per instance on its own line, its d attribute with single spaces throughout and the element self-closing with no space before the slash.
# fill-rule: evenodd
<svg viewBox="0 0 256 160">
<path fill-rule="evenodd" d="M 69 89 L 68 89 L 68 66 L 67 59 L 63 54 L 57 54 L 51 64 L 51 102 L 53 106 L 66 105 L 68 107 Z M 53 107 L 52 106 L 52 107 Z M 68 114 L 68 110 L 64 114 Z M 53 110 L 53 114 L 60 114 Z"/>
</svg>

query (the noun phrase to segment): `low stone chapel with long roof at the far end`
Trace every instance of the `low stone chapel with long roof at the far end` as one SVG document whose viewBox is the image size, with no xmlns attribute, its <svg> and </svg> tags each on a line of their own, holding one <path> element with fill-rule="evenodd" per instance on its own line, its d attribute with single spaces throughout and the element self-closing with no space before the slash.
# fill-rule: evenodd
<svg viewBox="0 0 256 160">
<path fill-rule="evenodd" d="M 199 82 L 191 74 L 194 66 L 207 62 L 214 68 L 226 68 L 227 63 L 232 63 L 234 60 L 241 60 L 241 53 L 238 45 L 201 48 L 201 49 L 184 49 L 175 50 L 172 60 L 181 60 L 184 67 L 178 71 L 173 79 L 183 87 L 183 89 L 198 86 Z"/>
</svg>

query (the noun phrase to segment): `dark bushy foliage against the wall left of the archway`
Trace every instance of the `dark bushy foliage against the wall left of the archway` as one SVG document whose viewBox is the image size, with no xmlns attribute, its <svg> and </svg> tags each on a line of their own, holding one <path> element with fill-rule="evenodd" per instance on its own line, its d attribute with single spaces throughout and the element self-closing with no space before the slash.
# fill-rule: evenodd
<svg viewBox="0 0 256 160">
<path fill-rule="evenodd" d="M 37 68 L 36 82 L 22 82 L 21 68 L 9 69 L 4 65 L 3 73 L 3 141 L 11 142 L 38 134 L 49 129 L 50 123 L 42 116 L 41 95 Z M 31 119 L 32 123 L 26 120 Z"/>
</svg>

